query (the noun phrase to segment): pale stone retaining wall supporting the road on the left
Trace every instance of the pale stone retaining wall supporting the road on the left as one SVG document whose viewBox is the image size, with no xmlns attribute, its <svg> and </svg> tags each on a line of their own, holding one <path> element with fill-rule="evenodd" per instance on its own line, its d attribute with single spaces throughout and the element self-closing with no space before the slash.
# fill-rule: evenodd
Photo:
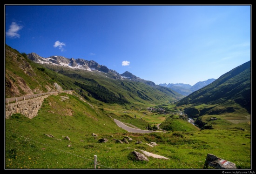
<svg viewBox="0 0 256 174">
<path fill-rule="evenodd" d="M 69 91 L 67 94 L 72 94 L 74 91 Z M 26 117 L 32 119 L 37 116 L 39 109 L 42 106 L 42 103 L 45 98 L 49 95 L 58 95 L 59 92 L 43 95 L 28 100 L 21 100 L 15 103 L 9 103 L 5 105 L 5 118 L 9 119 L 12 114 L 20 113 L 26 115 Z"/>
</svg>

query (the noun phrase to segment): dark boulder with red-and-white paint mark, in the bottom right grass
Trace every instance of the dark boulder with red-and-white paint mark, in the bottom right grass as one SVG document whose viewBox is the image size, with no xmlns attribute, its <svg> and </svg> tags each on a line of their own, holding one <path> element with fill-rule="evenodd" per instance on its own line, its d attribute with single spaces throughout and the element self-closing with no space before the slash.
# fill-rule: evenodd
<svg viewBox="0 0 256 174">
<path fill-rule="evenodd" d="M 208 168 L 208 167 L 214 167 L 218 169 L 236 168 L 236 164 L 233 162 L 218 158 L 213 154 L 207 154 L 203 168 Z"/>
</svg>

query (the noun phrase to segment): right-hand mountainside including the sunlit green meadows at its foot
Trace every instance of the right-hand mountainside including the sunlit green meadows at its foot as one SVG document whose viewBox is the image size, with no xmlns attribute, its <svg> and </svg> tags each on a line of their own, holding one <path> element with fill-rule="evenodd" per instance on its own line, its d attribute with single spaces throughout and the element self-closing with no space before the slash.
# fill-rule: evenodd
<svg viewBox="0 0 256 174">
<path fill-rule="evenodd" d="M 251 61 L 238 66 L 206 87 L 177 101 L 201 129 L 240 127 L 250 130 Z"/>
</svg>

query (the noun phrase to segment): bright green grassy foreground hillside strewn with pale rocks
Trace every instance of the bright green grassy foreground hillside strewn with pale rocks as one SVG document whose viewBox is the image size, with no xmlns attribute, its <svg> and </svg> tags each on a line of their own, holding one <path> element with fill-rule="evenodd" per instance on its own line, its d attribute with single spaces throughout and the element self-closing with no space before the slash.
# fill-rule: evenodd
<svg viewBox="0 0 256 174">
<path fill-rule="evenodd" d="M 68 95 L 69 100 L 61 101 L 61 95 Z M 202 169 L 208 153 L 235 163 L 239 169 L 251 168 L 249 131 L 230 128 L 134 134 L 116 126 L 104 107 L 109 108 L 89 105 L 74 95 L 59 94 L 45 99 L 33 119 L 13 114 L 5 120 L 5 168 L 93 169 L 97 155 L 96 168 L 101 169 Z M 140 119 L 143 114 L 136 115 L 136 127 L 140 120 L 145 124 Z M 93 133 L 98 136 L 92 136 Z M 121 144 L 114 140 L 126 136 L 133 141 Z M 108 142 L 99 143 L 101 138 Z M 149 142 L 156 142 L 157 146 L 150 147 L 146 144 Z M 148 157 L 149 161 L 134 161 L 130 153 L 135 149 L 168 160 Z"/>
</svg>

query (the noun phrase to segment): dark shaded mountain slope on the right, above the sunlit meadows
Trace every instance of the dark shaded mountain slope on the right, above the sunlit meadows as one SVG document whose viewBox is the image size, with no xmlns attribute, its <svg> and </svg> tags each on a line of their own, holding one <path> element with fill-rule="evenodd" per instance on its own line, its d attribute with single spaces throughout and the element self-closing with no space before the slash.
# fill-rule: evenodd
<svg viewBox="0 0 256 174">
<path fill-rule="evenodd" d="M 250 113 L 250 72 L 250 61 L 248 61 L 228 73 L 223 74 L 208 86 L 203 87 L 182 100 L 177 101 L 176 106 L 190 105 L 190 107 L 195 107 L 201 104 L 222 105 L 223 107 L 226 106 L 229 108 L 227 109 L 228 112 L 228 110 L 236 110 L 236 108 L 230 108 L 230 104 L 233 105 L 232 103 L 236 103 Z M 207 112 L 203 112 L 203 114 L 218 114 L 216 111 L 213 111 L 213 108 L 209 109 Z M 190 113 L 188 109 L 189 107 L 187 108 L 187 114 Z"/>
</svg>

